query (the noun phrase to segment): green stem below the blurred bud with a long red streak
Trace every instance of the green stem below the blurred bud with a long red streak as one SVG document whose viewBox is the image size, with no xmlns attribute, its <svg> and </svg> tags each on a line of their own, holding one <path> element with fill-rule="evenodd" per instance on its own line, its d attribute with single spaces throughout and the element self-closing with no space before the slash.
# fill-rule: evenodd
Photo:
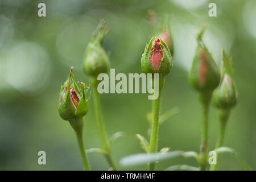
<svg viewBox="0 0 256 182">
<path fill-rule="evenodd" d="M 211 98 L 212 92 L 200 93 L 200 99 L 203 105 L 202 135 L 199 155 L 199 164 L 201 171 L 205 171 L 208 164 L 208 113 Z"/>
</svg>

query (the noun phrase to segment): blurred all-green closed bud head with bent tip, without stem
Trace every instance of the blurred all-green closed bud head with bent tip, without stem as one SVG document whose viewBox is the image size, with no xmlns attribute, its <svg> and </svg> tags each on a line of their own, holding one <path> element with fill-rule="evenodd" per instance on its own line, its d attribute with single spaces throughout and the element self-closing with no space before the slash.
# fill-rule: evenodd
<svg viewBox="0 0 256 182">
<path fill-rule="evenodd" d="M 84 55 L 84 71 L 93 77 L 109 70 L 109 57 L 102 47 L 104 36 L 108 32 L 108 27 L 103 19 L 100 20 L 98 27 L 93 32 L 92 39 L 88 43 Z"/>
</svg>

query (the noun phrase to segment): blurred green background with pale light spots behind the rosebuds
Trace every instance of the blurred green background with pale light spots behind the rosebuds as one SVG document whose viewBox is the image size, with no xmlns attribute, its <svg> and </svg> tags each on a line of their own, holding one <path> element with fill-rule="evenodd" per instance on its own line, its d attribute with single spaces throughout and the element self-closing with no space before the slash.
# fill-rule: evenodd
<svg viewBox="0 0 256 182">
<path fill-rule="evenodd" d="M 46 3 L 46 17 L 38 16 L 38 3 Z M 237 150 L 256 169 L 256 1 L 214 1 L 217 17 L 209 17 L 209 3 L 200 0 L 105 0 L 105 1 L 0 1 L 0 169 L 80 170 L 82 162 L 75 133 L 60 118 L 57 105 L 60 85 L 74 68 L 76 80 L 89 84 L 82 71 L 82 56 L 100 18 L 110 27 L 104 48 L 110 52 L 115 72 L 141 73 L 141 55 L 152 36 L 148 9 L 156 20 L 172 15 L 174 68 L 166 78 L 161 113 L 178 107 L 179 113 L 159 129 L 159 148 L 199 151 L 201 107 L 197 93 L 187 82 L 195 53 L 195 35 L 207 25 L 204 41 L 217 63 L 221 48 L 233 57 L 234 80 L 239 100 L 232 110 L 224 145 Z M 93 99 L 93 98 L 92 98 Z M 151 101 L 146 94 L 103 94 L 102 110 L 109 137 L 117 131 L 142 134 L 148 139 L 146 115 Z M 92 101 L 84 117 L 86 148 L 101 147 Z M 213 150 L 218 118 L 210 107 L 209 138 Z M 47 165 L 38 165 L 38 151 L 46 151 Z M 138 140 L 124 137 L 113 143 L 116 161 L 143 152 Z M 89 154 L 92 169 L 108 169 L 104 156 Z M 167 160 L 196 166 L 193 159 Z M 146 166 L 122 169 L 147 169 Z M 242 167 L 229 154 L 222 155 L 220 169 Z"/>
</svg>

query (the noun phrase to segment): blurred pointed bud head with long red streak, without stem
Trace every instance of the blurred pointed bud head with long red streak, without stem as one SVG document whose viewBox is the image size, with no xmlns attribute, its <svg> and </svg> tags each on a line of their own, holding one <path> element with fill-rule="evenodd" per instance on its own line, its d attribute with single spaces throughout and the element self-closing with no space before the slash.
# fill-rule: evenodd
<svg viewBox="0 0 256 182">
<path fill-rule="evenodd" d="M 220 83 L 220 71 L 213 60 L 212 54 L 204 45 L 203 36 L 205 28 L 197 36 L 198 46 L 189 72 L 189 84 L 200 92 L 212 92 Z"/>
</svg>

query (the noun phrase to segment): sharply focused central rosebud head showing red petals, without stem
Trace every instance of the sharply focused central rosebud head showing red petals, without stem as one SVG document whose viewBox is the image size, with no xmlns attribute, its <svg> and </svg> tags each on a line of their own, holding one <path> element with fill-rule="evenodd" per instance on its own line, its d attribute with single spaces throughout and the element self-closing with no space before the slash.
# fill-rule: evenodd
<svg viewBox="0 0 256 182">
<path fill-rule="evenodd" d="M 166 76 L 172 69 L 172 56 L 162 39 L 151 38 L 141 57 L 143 73 L 159 73 Z"/>
</svg>

